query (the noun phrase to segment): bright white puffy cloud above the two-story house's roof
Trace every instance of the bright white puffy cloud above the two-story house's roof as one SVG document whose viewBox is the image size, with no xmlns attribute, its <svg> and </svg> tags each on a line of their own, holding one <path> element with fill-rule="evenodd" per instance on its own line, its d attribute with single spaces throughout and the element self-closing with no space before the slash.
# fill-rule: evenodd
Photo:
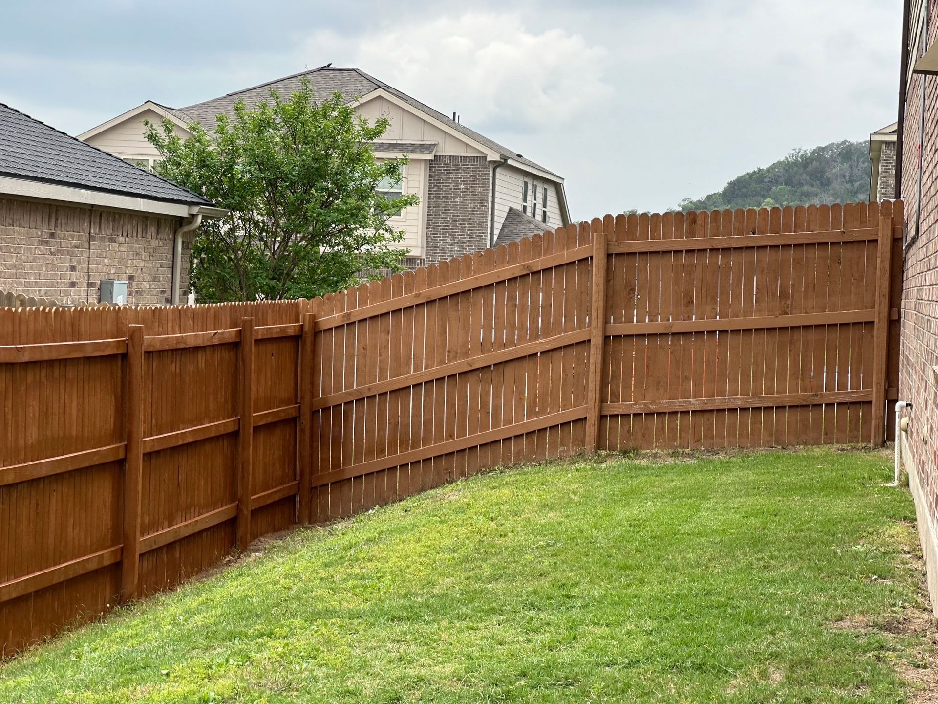
<svg viewBox="0 0 938 704">
<path fill-rule="evenodd" d="M 305 55 L 343 54 L 343 40 L 317 33 Z M 348 60 L 474 129 L 522 131 L 567 125 L 612 95 L 608 57 L 581 35 L 530 31 L 517 13 L 471 12 L 360 36 Z"/>
</svg>

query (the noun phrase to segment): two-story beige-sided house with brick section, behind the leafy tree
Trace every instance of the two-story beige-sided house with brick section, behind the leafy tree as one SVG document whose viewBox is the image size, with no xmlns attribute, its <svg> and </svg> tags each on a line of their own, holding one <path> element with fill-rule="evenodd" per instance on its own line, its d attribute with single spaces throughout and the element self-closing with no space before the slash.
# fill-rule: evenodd
<svg viewBox="0 0 938 704">
<path fill-rule="evenodd" d="M 543 230 L 569 223 L 563 178 L 465 127 L 455 113 L 447 117 L 359 69 L 312 69 L 184 108 L 147 101 L 78 138 L 130 163 L 152 165 L 159 152 L 144 139 L 144 119 L 169 119 L 181 136 L 189 135 L 193 122 L 212 130 L 217 115 L 234 115 L 238 100 L 250 108 L 269 99 L 271 89 L 286 97 L 303 79 L 310 81 L 317 99 L 340 92 L 360 115 L 390 119 L 385 135 L 374 143 L 375 156 L 408 156 L 403 182 L 395 188 L 420 197 L 419 205 L 391 220 L 406 233 L 401 247 L 410 250 L 408 266 L 485 249 L 500 238 L 511 207 L 540 222 Z"/>
</svg>

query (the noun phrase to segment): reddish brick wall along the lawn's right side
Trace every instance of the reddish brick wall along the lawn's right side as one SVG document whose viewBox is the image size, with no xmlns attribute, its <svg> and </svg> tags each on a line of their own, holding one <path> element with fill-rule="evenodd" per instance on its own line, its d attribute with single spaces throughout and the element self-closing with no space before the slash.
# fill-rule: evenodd
<svg viewBox="0 0 938 704">
<path fill-rule="evenodd" d="M 932 17 L 929 44 L 938 22 Z M 910 64 L 915 63 L 915 57 Z M 925 130 L 921 135 L 922 77 L 910 76 L 905 103 L 902 149 L 902 199 L 905 202 L 906 247 L 902 281 L 900 386 L 903 401 L 911 401 L 912 422 L 905 437 L 917 474 L 914 486 L 919 531 L 926 557 L 933 555 L 938 524 L 938 385 L 931 367 L 938 365 L 938 78 L 929 77 L 925 90 Z M 922 145 L 921 208 L 917 197 L 919 145 Z M 920 226 L 916 234 L 916 216 Z M 929 525 L 930 523 L 930 525 Z M 931 546 L 928 544 L 931 542 Z M 930 553 L 930 550 L 932 551 Z M 938 607 L 938 565 L 930 562 L 933 605 Z"/>
</svg>

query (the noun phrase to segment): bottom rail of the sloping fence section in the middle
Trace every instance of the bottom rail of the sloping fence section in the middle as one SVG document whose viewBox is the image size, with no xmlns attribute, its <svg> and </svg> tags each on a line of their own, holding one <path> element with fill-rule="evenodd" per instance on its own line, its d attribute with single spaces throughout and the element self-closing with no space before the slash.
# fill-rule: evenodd
<svg viewBox="0 0 938 704">
<path fill-rule="evenodd" d="M 340 469 L 313 477 L 313 486 L 320 486 L 329 482 L 338 482 L 352 477 L 360 477 L 365 474 L 371 474 L 371 472 L 381 471 L 387 467 L 398 467 L 399 465 L 406 465 L 410 462 L 417 462 L 431 457 L 446 456 L 451 452 L 465 450 L 475 445 L 481 445 L 495 440 L 504 440 L 508 437 L 522 436 L 525 433 L 531 433 L 541 428 L 549 428 L 552 425 L 577 421 L 585 417 L 586 406 L 580 406 L 578 408 L 570 408 L 566 411 L 552 413 L 548 416 L 541 416 L 531 421 L 523 421 L 513 425 L 495 428 L 494 430 L 479 433 L 475 436 L 455 437 L 440 443 L 428 445 L 418 450 L 401 452 L 401 454 L 387 457 L 379 457 L 359 465 L 352 465 L 351 467 L 341 467 Z"/>
</svg>

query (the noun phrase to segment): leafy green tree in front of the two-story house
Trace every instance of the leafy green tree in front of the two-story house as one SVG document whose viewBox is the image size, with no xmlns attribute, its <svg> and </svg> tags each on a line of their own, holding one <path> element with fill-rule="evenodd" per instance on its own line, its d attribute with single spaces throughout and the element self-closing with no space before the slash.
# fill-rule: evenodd
<svg viewBox="0 0 938 704">
<path fill-rule="evenodd" d="M 218 116 L 192 136 L 173 123 L 147 123 L 159 176 L 229 210 L 203 222 L 192 249 L 191 282 L 201 300 L 311 298 L 355 285 L 362 272 L 400 270 L 403 233 L 388 219 L 414 206 L 380 192 L 401 182 L 403 160 L 376 161 L 369 144 L 388 120 L 369 123 L 340 96 L 313 99 L 310 84 L 234 118 Z M 379 188 L 380 185 L 380 188 Z"/>
</svg>

